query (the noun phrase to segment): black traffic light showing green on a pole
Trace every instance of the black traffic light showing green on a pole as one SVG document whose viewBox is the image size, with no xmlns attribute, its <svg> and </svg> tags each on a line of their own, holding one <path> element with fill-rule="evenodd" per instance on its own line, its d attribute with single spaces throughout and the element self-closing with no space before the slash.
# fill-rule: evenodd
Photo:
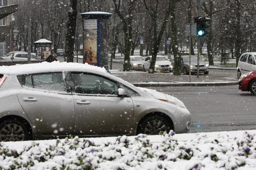
<svg viewBox="0 0 256 170">
<path fill-rule="evenodd" d="M 209 33 L 207 28 L 210 28 L 211 25 L 206 23 L 209 20 L 210 20 L 210 18 L 206 18 L 206 17 L 201 17 L 201 16 L 195 17 L 196 35 L 197 36 L 203 37 Z"/>
</svg>

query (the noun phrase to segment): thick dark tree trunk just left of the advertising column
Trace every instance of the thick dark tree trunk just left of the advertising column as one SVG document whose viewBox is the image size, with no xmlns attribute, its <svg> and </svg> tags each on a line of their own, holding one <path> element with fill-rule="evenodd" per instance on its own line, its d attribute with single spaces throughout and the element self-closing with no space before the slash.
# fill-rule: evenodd
<svg viewBox="0 0 256 170">
<path fill-rule="evenodd" d="M 73 62 L 75 31 L 76 31 L 77 0 L 70 0 L 69 7 L 70 9 L 68 12 L 64 60 L 67 62 Z"/>
</svg>

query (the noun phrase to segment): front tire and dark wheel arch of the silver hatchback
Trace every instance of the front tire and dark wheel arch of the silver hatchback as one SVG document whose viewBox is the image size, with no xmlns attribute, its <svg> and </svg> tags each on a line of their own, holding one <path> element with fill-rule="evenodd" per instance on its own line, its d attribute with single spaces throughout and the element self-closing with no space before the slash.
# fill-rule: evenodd
<svg viewBox="0 0 256 170">
<path fill-rule="evenodd" d="M 154 124 L 156 126 L 154 126 Z M 147 135 L 157 135 L 161 134 L 161 132 L 169 133 L 171 129 L 173 129 L 173 127 L 170 122 L 168 122 L 164 117 L 155 115 L 146 118 L 141 124 L 139 124 L 137 134 L 143 133 Z"/>
</svg>

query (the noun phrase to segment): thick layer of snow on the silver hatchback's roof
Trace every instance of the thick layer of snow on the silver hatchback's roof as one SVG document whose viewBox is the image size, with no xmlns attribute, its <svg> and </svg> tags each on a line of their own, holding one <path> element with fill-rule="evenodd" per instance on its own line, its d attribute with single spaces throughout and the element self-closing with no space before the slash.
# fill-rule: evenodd
<svg viewBox="0 0 256 170">
<path fill-rule="evenodd" d="M 41 62 L 35 64 L 22 64 L 12 66 L 0 66 L 1 74 L 33 74 L 33 73 L 47 73 L 47 72 L 92 72 L 98 74 L 108 74 L 105 68 L 89 65 L 87 63 L 73 63 L 73 62 Z"/>
</svg>

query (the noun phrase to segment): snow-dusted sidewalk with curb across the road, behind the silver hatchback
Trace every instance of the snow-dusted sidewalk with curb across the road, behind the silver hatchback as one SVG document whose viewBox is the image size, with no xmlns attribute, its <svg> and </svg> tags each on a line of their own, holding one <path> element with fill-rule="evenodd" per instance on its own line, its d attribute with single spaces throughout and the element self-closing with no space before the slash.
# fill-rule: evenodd
<svg viewBox="0 0 256 170">
<path fill-rule="evenodd" d="M 232 77 L 214 77 L 200 74 L 199 78 L 196 75 L 191 75 L 189 82 L 188 75 L 174 76 L 171 73 L 153 73 L 121 70 L 110 70 L 111 74 L 130 82 L 135 86 L 227 86 L 237 85 L 237 80 Z"/>
</svg>

